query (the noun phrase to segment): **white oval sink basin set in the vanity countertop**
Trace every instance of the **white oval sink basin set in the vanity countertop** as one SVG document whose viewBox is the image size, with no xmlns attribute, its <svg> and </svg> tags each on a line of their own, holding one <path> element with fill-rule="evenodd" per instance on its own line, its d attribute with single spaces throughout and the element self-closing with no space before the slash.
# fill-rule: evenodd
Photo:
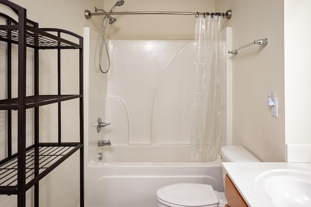
<svg viewBox="0 0 311 207">
<path fill-rule="evenodd" d="M 311 172 L 269 170 L 256 177 L 255 185 L 276 207 L 311 207 Z"/>
</svg>

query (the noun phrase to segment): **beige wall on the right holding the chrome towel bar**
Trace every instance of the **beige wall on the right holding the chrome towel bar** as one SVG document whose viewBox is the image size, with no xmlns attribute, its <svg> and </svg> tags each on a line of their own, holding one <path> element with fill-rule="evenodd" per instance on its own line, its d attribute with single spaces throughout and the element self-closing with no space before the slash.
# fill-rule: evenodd
<svg viewBox="0 0 311 207">
<path fill-rule="evenodd" d="M 233 144 L 240 144 L 261 161 L 285 161 L 284 12 L 283 0 L 217 0 L 216 10 L 232 9 L 233 48 L 255 39 L 258 45 L 232 55 Z M 278 97 L 278 118 L 267 105 L 268 92 Z"/>
</svg>

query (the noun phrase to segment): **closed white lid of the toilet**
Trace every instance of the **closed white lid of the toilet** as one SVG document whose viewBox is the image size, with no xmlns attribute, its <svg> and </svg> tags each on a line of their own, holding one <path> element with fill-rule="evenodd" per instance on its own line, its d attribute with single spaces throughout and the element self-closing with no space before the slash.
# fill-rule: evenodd
<svg viewBox="0 0 311 207">
<path fill-rule="evenodd" d="M 178 183 L 156 191 L 157 197 L 170 204 L 197 207 L 218 204 L 218 198 L 210 185 Z"/>
</svg>

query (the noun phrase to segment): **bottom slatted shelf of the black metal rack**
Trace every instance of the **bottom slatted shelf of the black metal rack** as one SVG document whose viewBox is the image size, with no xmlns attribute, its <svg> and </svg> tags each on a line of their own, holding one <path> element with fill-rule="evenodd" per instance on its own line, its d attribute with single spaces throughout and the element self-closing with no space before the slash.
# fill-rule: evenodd
<svg viewBox="0 0 311 207">
<path fill-rule="evenodd" d="M 81 143 L 40 143 L 26 150 L 26 190 L 82 147 Z M 17 194 L 17 154 L 0 162 L 0 194 Z M 35 172 L 38 175 L 35 176 Z"/>
</svg>

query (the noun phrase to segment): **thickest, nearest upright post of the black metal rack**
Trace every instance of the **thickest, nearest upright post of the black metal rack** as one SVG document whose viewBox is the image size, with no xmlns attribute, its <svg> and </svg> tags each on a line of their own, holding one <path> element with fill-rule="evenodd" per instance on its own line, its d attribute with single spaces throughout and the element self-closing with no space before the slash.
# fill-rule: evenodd
<svg viewBox="0 0 311 207">
<path fill-rule="evenodd" d="M 18 8 L 17 206 L 26 206 L 26 9 Z"/>
</svg>

